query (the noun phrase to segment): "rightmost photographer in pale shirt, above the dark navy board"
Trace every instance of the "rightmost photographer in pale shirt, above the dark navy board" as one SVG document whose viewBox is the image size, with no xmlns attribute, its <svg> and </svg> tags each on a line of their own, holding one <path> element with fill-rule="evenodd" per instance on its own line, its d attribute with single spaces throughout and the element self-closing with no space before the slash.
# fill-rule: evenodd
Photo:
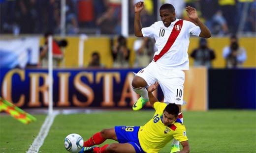
<svg viewBox="0 0 256 153">
<path fill-rule="evenodd" d="M 230 37 L 230 46 L 223 49 L 223 57 L 226 59 L 226 68 L 242 67 L 246 60 L 246 51 L 239 47 L 236 35 Z"/>
</svg>

